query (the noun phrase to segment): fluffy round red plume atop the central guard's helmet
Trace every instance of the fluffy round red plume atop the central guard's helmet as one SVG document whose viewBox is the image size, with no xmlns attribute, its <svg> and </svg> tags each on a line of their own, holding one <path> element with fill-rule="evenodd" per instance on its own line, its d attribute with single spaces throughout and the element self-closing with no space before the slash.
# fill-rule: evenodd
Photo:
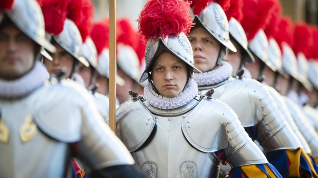
<svg viewBox="0 0 318 178">
<path fill-rule="evenodd" d="M 144 40 L 187 34 L 192 26 L 190 3 L 184 0 L 149 0 L 138 18 Z"/>
</svg>

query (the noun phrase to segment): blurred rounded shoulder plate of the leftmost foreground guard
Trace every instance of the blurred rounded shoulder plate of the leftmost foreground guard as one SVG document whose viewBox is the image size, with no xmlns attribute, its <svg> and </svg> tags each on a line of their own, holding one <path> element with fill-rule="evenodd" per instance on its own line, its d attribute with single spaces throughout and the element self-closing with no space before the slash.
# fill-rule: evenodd
<svg viewBox="0 0 318 178">
<path fill-rule="evenodd" d="M 86 92 L 86 93 L 85 93 Z M 48 136 L 62 142 L 77 142 L 81 139 L 81 108 L 87 101 L 87 91 L 77 83 L 63 80 L 61 83 L 46 83 L 38 91 L 38 107 L 34 121 Z M 87 98 L 86 98 L 87 97 Z"/>
</svg>

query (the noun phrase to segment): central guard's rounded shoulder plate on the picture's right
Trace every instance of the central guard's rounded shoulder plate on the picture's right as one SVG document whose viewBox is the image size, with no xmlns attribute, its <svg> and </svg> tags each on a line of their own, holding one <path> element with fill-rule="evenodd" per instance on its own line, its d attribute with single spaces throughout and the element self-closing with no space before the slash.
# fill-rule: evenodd
<svg viewBox="0 0 318 178">
<path fill-rule="evenodd" d="M 182 121 L 182 131 L 196 149 L 214 152 L 228 147 L 232 122 L 240 124 L 236 118 L 236 114 L 225 103 L 203 98 Z"/>
</svg>

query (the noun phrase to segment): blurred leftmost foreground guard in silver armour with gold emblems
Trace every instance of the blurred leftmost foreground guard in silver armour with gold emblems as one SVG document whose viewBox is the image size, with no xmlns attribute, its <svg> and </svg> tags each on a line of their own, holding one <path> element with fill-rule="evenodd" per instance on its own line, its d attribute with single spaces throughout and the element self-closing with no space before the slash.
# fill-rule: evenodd
<svg viewBox="0 0 318 178">
<path fill-rule="evenodd" d="M 39 49 L 56 49 L 45 39 L 37 2 L 6 4 L 0 10 L 1 177 L 67 177 L 73 155 L 91 177 L 143 177 L 83 87 L 46 81 Z"/>
</svg>

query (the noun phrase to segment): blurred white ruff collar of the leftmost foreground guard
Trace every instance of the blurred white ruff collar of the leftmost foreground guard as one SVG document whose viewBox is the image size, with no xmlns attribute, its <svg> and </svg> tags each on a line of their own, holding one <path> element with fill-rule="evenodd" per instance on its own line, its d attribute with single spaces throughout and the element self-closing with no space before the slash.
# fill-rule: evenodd
<svg viewBox="0 0 318 178">
<path fill-rule="evenodd" d="M 0 98 L 15 99 L 27 96 L 49 77 L 50 75 L 43 64 L 37 61 L 27 74 L 16 80 L 0 79 Z"/>
</svg>

